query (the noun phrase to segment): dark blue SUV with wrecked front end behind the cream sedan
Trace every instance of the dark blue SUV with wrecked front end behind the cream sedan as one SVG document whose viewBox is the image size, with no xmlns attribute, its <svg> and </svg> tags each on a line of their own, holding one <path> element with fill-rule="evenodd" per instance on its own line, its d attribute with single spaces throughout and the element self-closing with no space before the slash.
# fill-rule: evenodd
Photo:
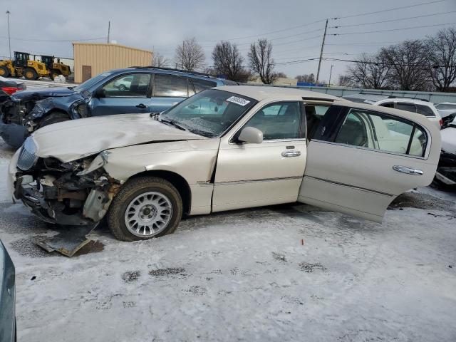
<svg viewBox="0 0 456 342">
<path fill-rule="evenodd" d="M 0 136 L 19 147 L 34 130 L 89 116 L 160 113 L 185 98 L 232 81 L 170 68 L 133 67 L 101 73 L 75 88 L 14 93 L 0 105 Z"/>
</svg>

